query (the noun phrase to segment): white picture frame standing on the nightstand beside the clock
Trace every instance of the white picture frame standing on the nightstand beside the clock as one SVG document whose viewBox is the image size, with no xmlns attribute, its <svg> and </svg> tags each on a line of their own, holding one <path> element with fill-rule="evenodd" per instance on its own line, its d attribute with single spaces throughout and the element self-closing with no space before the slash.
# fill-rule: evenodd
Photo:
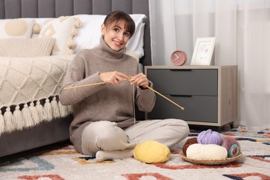
<svg viewBox="0 0 270 180">
<path fill-rule="evenodd" d="M 212 65 L 214 48 L 215 37 L 197 38 L 190 65 Z"/>
</svg>

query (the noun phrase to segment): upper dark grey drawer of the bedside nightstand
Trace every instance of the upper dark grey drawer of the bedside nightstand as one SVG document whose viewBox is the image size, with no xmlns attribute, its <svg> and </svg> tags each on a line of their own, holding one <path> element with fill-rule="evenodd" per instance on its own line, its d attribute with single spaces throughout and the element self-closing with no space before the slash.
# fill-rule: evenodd
<svg viewBox="0 0 270 180">
<path fill-rule="evenodd" d="M 162 94 L 217 96 L 217 69 L 147 69 L 147 78 Z"/>
</svg>

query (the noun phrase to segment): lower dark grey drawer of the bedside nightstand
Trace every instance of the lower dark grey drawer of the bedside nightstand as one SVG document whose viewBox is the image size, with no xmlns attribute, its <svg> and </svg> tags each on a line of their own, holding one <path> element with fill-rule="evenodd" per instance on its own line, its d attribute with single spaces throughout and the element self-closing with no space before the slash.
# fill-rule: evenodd
<svg viewBox="0 0 270 180">
<path fill-rule="evenodd" d="M 147 114 L 149 119 L 179 118 L 186 121 L 217 123 L 217 96 L 166 96 L 172 102 L 156 95 L 156 105 Z"/>
</svg>

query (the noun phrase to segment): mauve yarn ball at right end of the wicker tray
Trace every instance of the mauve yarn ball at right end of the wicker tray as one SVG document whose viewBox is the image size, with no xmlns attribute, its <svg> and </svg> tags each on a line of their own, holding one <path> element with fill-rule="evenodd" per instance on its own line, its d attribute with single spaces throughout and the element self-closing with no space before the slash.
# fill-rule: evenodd
<svg viewBox="0 0 270 180">
<path fill-rule="evenodd" d="M 228 151 L 228 158 L 235 157 L 241 152 L 240 144 L 231 137 L 222 136 L 222 147 Z"/>
</svg>

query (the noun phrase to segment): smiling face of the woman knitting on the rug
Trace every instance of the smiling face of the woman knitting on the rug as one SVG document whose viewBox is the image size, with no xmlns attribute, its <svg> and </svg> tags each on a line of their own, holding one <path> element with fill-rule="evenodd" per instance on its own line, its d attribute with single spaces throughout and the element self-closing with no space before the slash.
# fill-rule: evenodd
<svg viewBox="0 0 270 180">
<path fill-rule="evenodd" d="M 114 51 L 124 48 L 130 37 L 130 33 L 125 30 L 124 20 L 118 21 L 117 24 L 113 22 L 107 27 L 102 24 L 101 33 L 104 35 L 106 44 Z"/>
</svg>

